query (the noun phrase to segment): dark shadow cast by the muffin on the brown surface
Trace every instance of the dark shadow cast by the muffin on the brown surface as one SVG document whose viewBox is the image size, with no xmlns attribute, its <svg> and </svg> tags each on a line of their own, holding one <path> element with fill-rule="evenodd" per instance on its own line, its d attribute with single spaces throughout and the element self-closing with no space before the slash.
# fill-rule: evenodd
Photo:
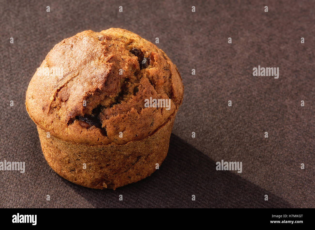
<svg viewBox="0 0 315 230">
<path fill-rule="evenodd" d="M 284 199 L 229 171 L 171 134 L 169 152 L 155 173 L 116 190 L 96 190 L 65 180 L 96 208 L 290 208 Z M 268 201 L 264 200 L 268 194 Z M 123 201 L 119 196 L 123 195 Z M 192 201 L 192 195 L 196 200 Z"/>
</svg>

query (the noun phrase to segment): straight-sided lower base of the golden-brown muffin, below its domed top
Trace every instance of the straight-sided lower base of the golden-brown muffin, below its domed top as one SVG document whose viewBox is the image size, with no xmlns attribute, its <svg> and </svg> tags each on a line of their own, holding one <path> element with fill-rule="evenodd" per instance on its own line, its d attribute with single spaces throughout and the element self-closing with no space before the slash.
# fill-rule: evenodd
<svg viewBox="0 0 315 230">
<path fill-rule="evenodd" d="M 93 189 L 116 189 L 150 176 L 156 164 L 162 164 L 175 114 L 151 136 L 123 145 L 70 143 L 52 135 L 47 138 L 39 126 L 37 130 L 46 161 L 61 177 Z"/>
</svg>

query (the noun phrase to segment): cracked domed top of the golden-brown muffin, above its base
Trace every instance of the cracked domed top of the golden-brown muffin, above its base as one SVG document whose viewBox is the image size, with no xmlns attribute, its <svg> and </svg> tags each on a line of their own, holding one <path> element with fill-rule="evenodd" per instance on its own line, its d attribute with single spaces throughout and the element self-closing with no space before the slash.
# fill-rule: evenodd
<svg viewBox="0 0 315 230">
<path fill-rule="evenodd" d="M 150 97 L 170 105 L 147 107 Z M 182 98 L 180 74 L 161 49 L 111 28 L 86 30 L 55 45 L 31 79 L 26 110 L 62 140 L 125 144 L 151 136 L 175 115 Z"/>
</svg>

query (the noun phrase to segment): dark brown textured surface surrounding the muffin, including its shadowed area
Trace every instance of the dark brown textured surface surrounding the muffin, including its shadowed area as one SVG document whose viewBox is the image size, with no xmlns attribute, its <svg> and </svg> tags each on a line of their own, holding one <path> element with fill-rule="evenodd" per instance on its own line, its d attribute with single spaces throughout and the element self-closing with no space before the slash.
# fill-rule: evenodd
<svg viewBox="0 0 315 230">
<path fill-rule="evenodd" d="M 0 161 L 25 161 L 26 172 L 0 171 L 0 207 L 314 208 L 314 5 L 2 0 Z M 28 83 L 55 44 L 110 27 L 152 42 L 159 37 L 157 46 L 185 85 L 165 162 L 149 178 L 115 191 L 84 188 L 54 173 L 25 109 Z M 279 79 L 253 77 L 258 65 L 279 67 Z M 222 159 L 242 161 L 243 172 L 216 171 Z"/>
</svg>

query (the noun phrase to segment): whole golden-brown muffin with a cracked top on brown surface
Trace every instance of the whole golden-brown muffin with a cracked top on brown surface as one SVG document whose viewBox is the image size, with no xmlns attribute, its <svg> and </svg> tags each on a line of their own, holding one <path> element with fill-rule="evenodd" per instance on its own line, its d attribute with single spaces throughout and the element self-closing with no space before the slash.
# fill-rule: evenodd
<svg viewBox="0 0 315 230">
<path fill-rule="evenodd" d="M 183 89 L 151 42 L 118 28 L 87 30 L 50 50 L 28 85 L 26 110 L 56 173 L 116 189 L 161 165 Z"/>
</svg>

